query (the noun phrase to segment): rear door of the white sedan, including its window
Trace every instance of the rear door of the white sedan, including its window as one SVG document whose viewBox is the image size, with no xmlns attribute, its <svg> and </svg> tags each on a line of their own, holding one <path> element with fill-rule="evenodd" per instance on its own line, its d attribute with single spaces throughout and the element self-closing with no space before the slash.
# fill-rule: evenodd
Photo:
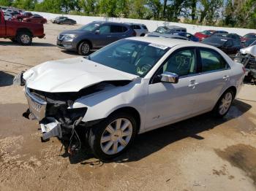
<svg viewBox="0 0 256 191">
<path fill-rule="evenodd" d="M 219 96 L 229 87 L 230 66 L 215 50 L 198 48 L 200 74 L 194 77 L 197 83 L 197 99 L 195 112 L 208 112 L 213 109 Z"/>
</svg>

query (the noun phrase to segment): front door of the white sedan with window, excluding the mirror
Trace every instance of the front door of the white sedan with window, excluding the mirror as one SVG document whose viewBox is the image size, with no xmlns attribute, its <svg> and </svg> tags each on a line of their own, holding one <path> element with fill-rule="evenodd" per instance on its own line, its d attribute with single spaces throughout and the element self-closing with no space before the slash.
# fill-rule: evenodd
<svg viewBox="0 0 256 191">
<path fill-rule="evenodd" d="M 178 83 L 159 82 L 157 76 L 164 71 L 178 74 Z M 148 85 L 146 130 L 193 114 L 197 89 L 192 79 L 196 71 L 197 58 L 193 47 L 176 50 L 160 66 Z"/>
</svg>

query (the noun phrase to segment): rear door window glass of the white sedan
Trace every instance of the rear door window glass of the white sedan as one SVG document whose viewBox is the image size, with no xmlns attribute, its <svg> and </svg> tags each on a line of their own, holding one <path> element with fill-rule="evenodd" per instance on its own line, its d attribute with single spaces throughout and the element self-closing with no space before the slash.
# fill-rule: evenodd
<svg viewBox="0 0 256 191">
<path fill-rule="evenodd" d="M 220 69 L 227 69 L 227 65 L 222 55 L 213 50 L 200 50 L 200 56 L 202 61 L 202 72 L 214 71 Z"/>
</svg>

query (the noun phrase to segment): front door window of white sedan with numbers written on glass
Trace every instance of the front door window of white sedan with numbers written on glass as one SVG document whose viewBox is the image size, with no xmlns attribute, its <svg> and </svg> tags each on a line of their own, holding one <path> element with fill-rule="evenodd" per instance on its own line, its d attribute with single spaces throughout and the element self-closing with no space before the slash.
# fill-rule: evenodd
<svg viewBox="0 0 256 191">
<path fill-rule="evenodd" d="M 196 65 L 195 49 L 180 50 L 170 55 L 162 66 L 162 71 L 172 72 L 182 77 L 195 74 Z"/>
</svg>

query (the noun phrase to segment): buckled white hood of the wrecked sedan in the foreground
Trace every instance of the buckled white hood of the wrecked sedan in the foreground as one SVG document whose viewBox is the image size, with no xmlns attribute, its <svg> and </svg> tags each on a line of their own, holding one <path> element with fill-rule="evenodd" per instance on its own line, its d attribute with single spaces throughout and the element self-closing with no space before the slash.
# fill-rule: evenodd
<svg viewBox="0 0 256 191">
<path fill-rule="evenodd" d="M 132 80 L 137 77 L 83 57 L 48 61 L 23 74 L 27 87 L 50 93 L 78 92 L 99 82 Z"/>
</svg>

